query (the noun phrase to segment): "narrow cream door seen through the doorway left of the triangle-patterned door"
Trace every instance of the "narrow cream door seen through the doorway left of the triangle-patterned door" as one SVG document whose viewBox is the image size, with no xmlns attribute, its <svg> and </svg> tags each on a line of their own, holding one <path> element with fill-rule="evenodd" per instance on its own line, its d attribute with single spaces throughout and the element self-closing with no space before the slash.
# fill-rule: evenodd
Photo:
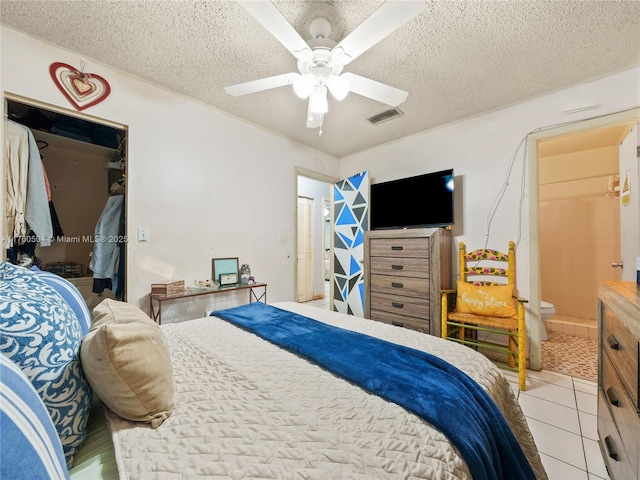
<svg viewBox="0 0 640 480">
<path fill-rule="evenodd" d="M 298 302 L 313 300 L 313 200 L 298 198 Z"/>
</svg>

